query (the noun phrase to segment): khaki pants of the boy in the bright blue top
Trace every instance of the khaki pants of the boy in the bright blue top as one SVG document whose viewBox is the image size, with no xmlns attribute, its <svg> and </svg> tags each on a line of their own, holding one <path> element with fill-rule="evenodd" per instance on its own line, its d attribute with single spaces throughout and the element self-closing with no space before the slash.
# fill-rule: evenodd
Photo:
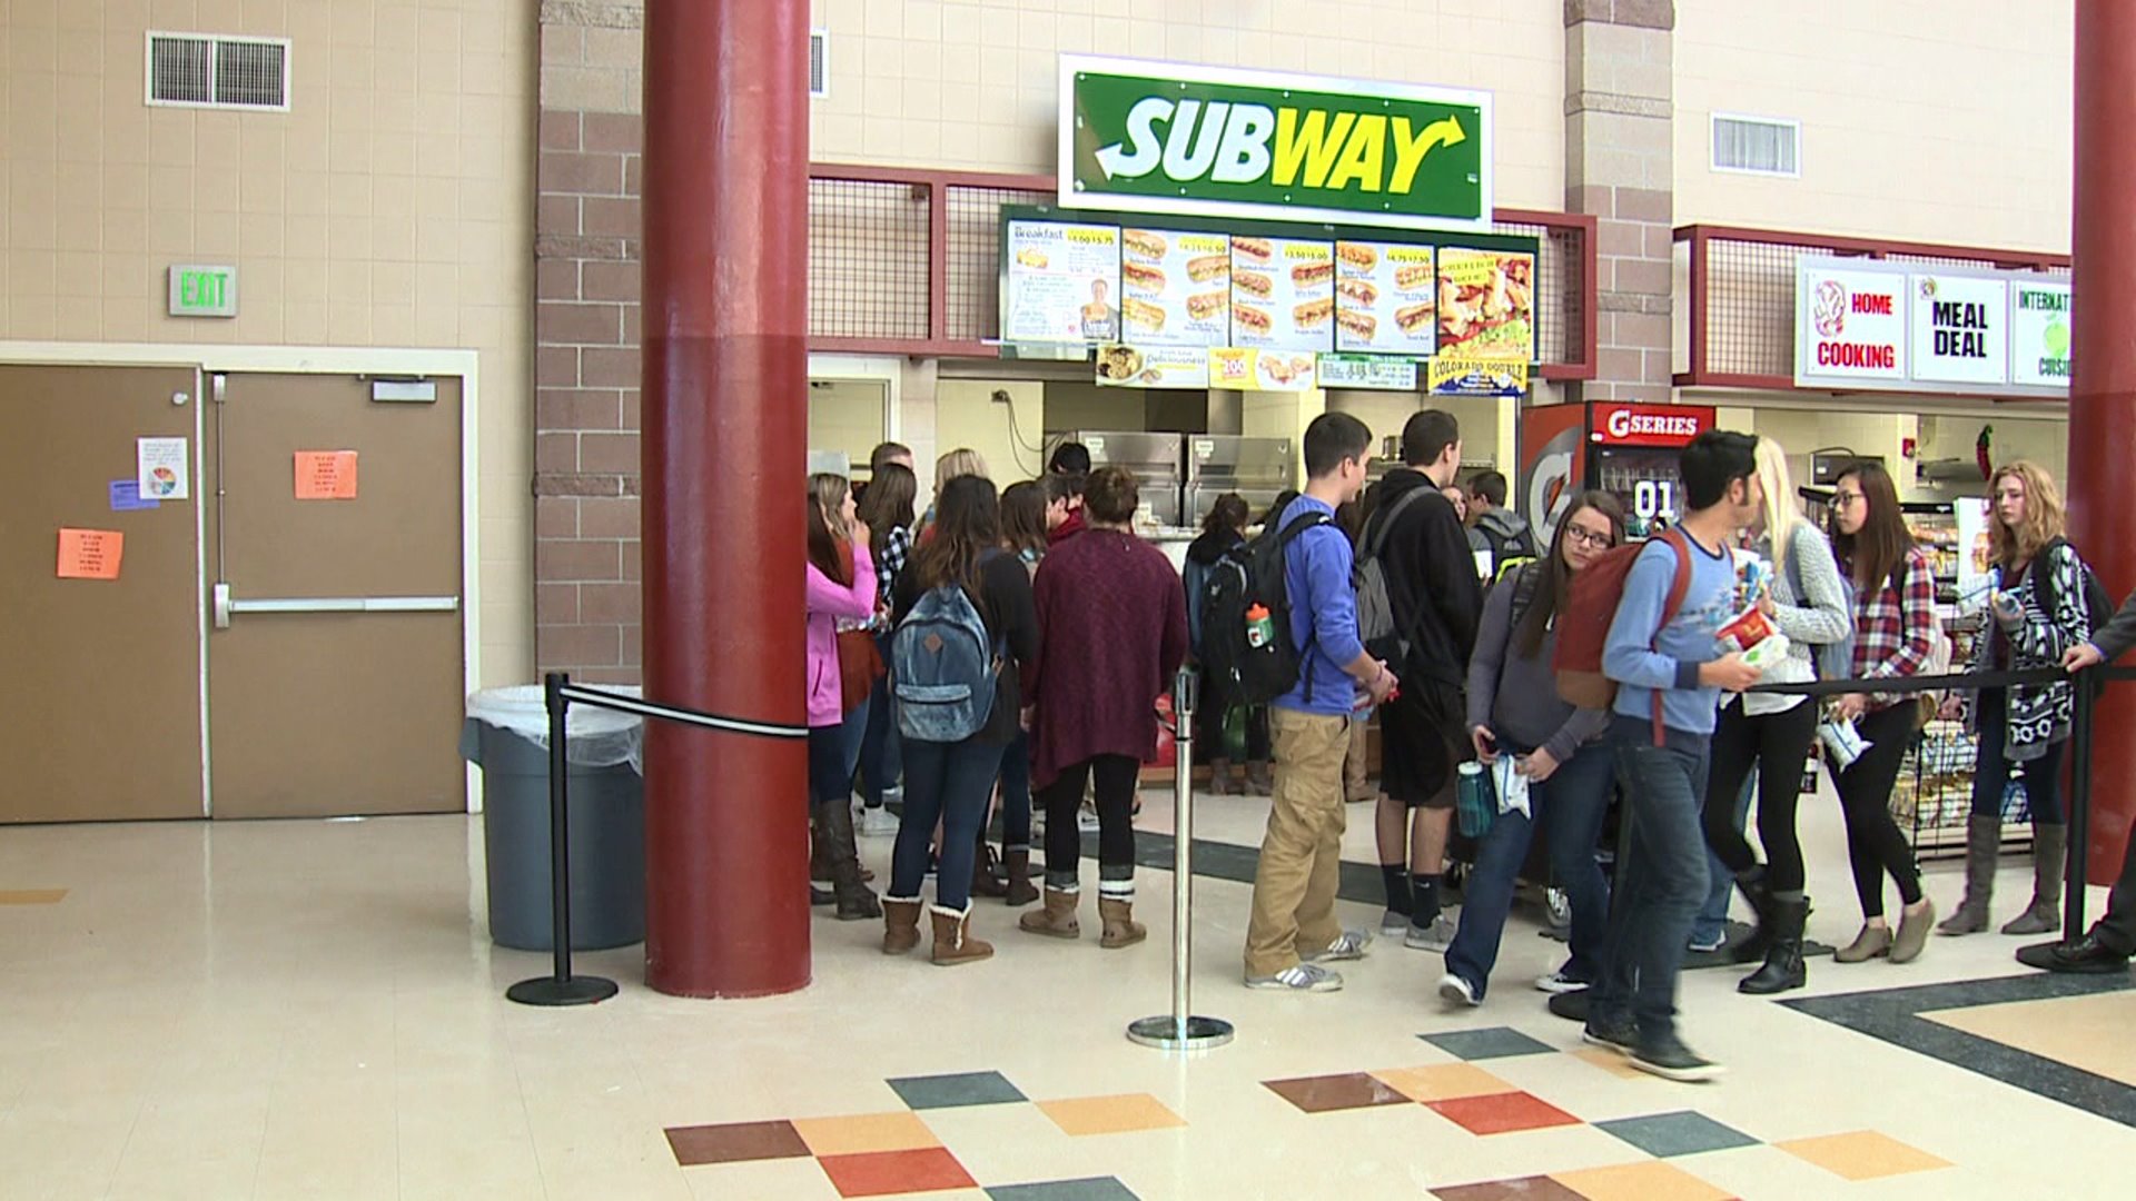
<svg viewBox="0 0 2136 1201">
<path fill-rule="evenodd" d="M 1269 731 L 1275 797 L 1254 872 L 1247 977 L 1273 977 L 1297 966 L 1301 949 L 1320 951 L 1341 936 L 1335 889 L 1341 883 L 1341 761 L 1350 750 L 1350 718 L 1269 709 Z"/>
</svg>

